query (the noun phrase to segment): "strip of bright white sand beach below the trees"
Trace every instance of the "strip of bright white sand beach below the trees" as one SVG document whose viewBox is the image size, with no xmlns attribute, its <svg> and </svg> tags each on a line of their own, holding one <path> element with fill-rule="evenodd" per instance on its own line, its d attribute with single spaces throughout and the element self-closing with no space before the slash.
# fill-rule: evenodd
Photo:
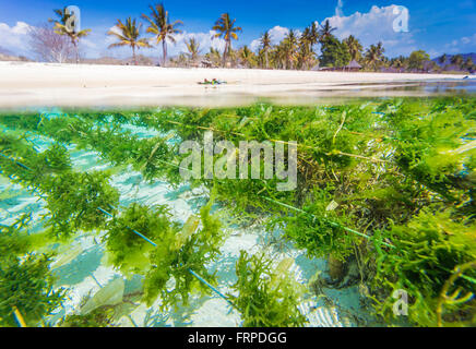
<svg viewBox="0 0 476 349">
<path fill-rule="evenodd" d="M 333 96 L 345 96 L 362 93 L 362 89 L 366 89 L 366 95 L 390 95 L 390 92 L 385 92 L 389 83 L 456 81 L 463 77 L 443 74 L 0 62 L 0 108 L 222 106 L 246 104 L 258 97 L 270 97 L 278 103 L 309 103 L 331 93 Z M 217 79 L 227 84 L 199 85 L 198 82 L 204 79 Z"/>
</svg>

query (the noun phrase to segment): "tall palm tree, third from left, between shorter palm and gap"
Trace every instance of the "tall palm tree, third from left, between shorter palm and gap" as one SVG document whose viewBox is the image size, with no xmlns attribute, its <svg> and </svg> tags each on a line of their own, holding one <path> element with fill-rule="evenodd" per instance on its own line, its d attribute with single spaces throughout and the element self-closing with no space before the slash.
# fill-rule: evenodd
<svg viewBox="0 0 476 349">
<path fill-rule="evenodd" d="M 155 35 L 155 44 L 162 43 L 163 62 L 165 67 L 167 63 L 167 40 L 175 44 L 175 34 L 180 34 L 181 31 L 177 29 L 177 26 L 183 24 L 181 21 L 169 22 L 168 11 L 165 10 L 163 3 L 157 3 L 155 8 L 151 4 L 151 17 L 146 14 L 142 14 L 142 17 L 148 22 L 147 33 Z"/>
</svg>

